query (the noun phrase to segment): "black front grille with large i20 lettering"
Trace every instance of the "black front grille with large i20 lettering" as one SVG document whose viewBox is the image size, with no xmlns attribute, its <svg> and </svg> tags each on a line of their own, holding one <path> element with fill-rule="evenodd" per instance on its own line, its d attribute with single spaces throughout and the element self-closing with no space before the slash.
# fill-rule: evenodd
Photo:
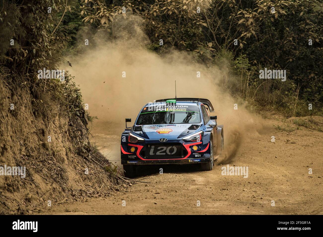
<svg viewBox="0 0 323 237">
<path fill-rule="evenodd" d="M 151 159 L 176 159 L 186 155 L 181 143 L 147 144 L 146 157 Z"/>
</svg>

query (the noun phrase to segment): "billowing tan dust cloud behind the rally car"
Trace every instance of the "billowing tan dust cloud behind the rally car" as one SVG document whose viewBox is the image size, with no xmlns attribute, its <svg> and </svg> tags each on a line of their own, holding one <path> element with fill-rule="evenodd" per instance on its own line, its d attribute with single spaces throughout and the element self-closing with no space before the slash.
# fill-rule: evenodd
<svg viewBox="0 0 323 237">
<path fill-rule="evenodd" d="M 207 98 L 213 104 L 215 113 L 211 115 L 217 115 L 218 124 L 224 124 L 225 150 L 218 162 L 229 162 L 247 134 L 255 132 L 256 124 L 243 102 L 222 89 L 223 81 L 230 82 L 224 80 L 229 69 L 225 65 L 221 69 L 207 68 L 194 62 L 187 53 L 176 50 L 160 56 L 147 50 L 149 41 L 138 19 L 119 24 L 121 33 L 117 39 L 104 40 L 102 33 L 91 36 L 89 45 L 85 46 L 83 41 L 83 47 L 88 47 L 83 53 L 67 59 L 72 63 L 69 72 L 80 86 L 84 103 L 89 104 L 89 113 L 99 118 L 93 127 L 99 127 L 100 133 L 113 131 L 114 135 L 120 135 L 125 118 L 133 122 L 143 105 L 174 98 L 176 80 L 178 98 Z M 122 33 L 122 29 L 128 30 Z M 237 110 L 234 104 L 238 104 Z M 105 131 L 108 129 L 109 132 Z"/>
</svg>

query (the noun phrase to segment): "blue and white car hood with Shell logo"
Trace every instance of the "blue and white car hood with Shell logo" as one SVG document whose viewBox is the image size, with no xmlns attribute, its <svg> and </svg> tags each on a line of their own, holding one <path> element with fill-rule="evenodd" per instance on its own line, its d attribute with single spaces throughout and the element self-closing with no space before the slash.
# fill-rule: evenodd
<svg viewBox="0 0 323 237">
<path fill-rule="evenodd" d="M 195 133 L 196 129 L 188 129 L 191 125 L 191 123 L 142 125 L 142 132 L 135 133 L 150 140 L 159 140 L 161 138 L 176 140 L 183 138 L 191 133 Z"/>
</svg>

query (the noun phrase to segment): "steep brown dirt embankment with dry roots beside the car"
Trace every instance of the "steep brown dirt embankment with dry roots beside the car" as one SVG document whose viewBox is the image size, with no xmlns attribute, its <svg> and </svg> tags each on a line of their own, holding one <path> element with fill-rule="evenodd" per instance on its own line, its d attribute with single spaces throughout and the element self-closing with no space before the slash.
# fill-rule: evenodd
<svg viewBox="0 0 323 237">
<path fill-rule="evenodd" d="M 119 182 L 87 143 L 86 124 L 71 124 L 59 101 L 41 91 L 34 98 L 19 80 L 0 77 L 0 214 L 107 196 Z"/>
</svg>

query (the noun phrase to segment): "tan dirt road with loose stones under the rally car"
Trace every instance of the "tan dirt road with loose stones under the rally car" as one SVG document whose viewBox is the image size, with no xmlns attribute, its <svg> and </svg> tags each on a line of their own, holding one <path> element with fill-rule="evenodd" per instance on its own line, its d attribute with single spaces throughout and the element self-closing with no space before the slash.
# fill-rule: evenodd
<svg viewBox="0 0 323 237">
<path fill-rule="evenodd" d="M 247 178 L 222 175 L 227 163 L 207 172 L 194 165 L 149 166 L 138 179 L 150 183 L 128 186 L 104 199 L 53 205 L 46 213 L 323 214 L 323 133 L 306 128 L 278 132 L 276 120 L 264 123 L 266 128 L 248 136 L 228 163 L 248 167 Z M 120 133 L 104 125 L 92 131 L 93 141 L 117 164 Z"/>
</svg>

